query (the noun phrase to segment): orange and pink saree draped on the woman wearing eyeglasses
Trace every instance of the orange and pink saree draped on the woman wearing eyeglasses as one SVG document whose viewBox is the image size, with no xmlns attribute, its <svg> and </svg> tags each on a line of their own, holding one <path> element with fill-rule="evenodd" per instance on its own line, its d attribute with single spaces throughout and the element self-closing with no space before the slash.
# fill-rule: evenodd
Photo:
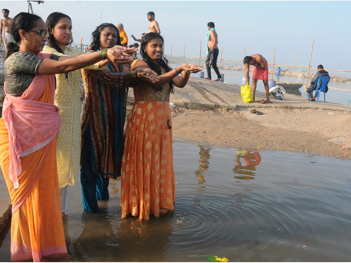
<svg viewBox="0 0 351 263">
<path fill-rule="evenodd" d="M 12 202 L 11 261 L 67 256 L 56 164 L 60 117 L 53 105 L 54 83 L 54 76 L 36 75 L 21 97 L 7 94 L 4 101 L 0 166 Z"/>
</svg>

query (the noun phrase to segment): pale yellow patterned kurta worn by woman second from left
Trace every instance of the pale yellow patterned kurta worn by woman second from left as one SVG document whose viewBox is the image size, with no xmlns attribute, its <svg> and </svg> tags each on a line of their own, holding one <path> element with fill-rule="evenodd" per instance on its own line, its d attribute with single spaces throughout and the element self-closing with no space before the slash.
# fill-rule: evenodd
<svg viewBox="0 0 351 263">
<path fill-rule="evenodd" d="M 45 46 L 42 53 L 56 54 L 59 56 L 79 56 L 86 54 L 83 50 L 66 47 L 65 53 Z M 98 64 L 86 67 L 98 69 Z M 60 108 L 62 120 L 57 139 L 57 169 L 60 188 L 67 184 L 73 186 L 80 173 L 80 87 L 82 84 L 81 70 L 66 74 L 56 74 L 55 105 Z"/>
</svg>

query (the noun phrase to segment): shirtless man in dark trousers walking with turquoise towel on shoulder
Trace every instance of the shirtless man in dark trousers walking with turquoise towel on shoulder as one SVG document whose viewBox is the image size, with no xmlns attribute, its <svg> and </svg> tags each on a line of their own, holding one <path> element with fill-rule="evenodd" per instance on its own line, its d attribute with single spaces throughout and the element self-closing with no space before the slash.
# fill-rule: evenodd
<svg viewBox="0 0 351 263">
<path fill-rule="evenodd" d="M 206 35 L 207 39 L 207 58 L 206 58 L 206 70 L 207 70 L 207 77 L 204 77 L 204 80 L 211 80 L 211 66 L 214 69 L 214 72 L 217 74 L 217 79 L 214 81 L 222 80 L 222 76 L 219 73 L 217 67 L 217 58 L 219 54 L 218 49 L 218 35 L 216 29 L 214 28 L 213 22 L 207 23 L 208 32 Z"/>
</svg>

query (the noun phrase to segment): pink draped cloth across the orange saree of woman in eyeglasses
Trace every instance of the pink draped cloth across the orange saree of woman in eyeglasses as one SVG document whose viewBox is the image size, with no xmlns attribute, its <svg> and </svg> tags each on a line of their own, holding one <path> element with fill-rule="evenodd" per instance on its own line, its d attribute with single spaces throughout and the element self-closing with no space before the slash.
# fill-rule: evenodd
<svg viewBox="0 0 351 263">
<path fill-rule="evenodd" d="M 39 53 L 38 56 L 50 58 L 49 54 Z M 14 188 L 19 187 L 18 176 L 22 172 L 20 157 L 31 154 L 51 142 L 61 126 L 59 108 L 51 103 L 36 101 L 46 88 L 52 90 L 53 103 L 54 75 L 35 75 L 33 82 L 21 97 L 9 95 L 4 83 L 6 97 L 2 117 L 8 130 L 9 176 Z"/>
</svg>

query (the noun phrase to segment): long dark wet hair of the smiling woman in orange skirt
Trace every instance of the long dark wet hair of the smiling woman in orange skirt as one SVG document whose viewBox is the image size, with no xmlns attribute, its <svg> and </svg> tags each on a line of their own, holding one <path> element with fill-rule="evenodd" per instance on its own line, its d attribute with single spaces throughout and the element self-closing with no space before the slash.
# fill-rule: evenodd
<svg viewBox="0 0 351 263">
<path fill-rule="evenodd" d="M 157 73 L 157 75 L 162 75 L 161 68 L 163 68 L 166 72 L 169 72 L 171 69 L 168 67 L 168 60 L 166 59 L 165 55 L 162 53 L 161 58 L 155 63 L 150 56 L 146 52 L 146 46 L 148 42 L 150 42 L 153 39 L 161 39 L 162 43 L 164 43 L 163 37 L 159 33 L 155 32 L 150 32 L 147 33 L 143 36 L 141 40 L 141 49 L 140 53 L 143 56 L 143 61 L 146 62 L 146 64 L 154 71 Z M 170 89 L 171 93 L 174 94 L 173 92 L 173 83 L 172 80 L 169 82 L 170 83 Z"/>
</svg>

